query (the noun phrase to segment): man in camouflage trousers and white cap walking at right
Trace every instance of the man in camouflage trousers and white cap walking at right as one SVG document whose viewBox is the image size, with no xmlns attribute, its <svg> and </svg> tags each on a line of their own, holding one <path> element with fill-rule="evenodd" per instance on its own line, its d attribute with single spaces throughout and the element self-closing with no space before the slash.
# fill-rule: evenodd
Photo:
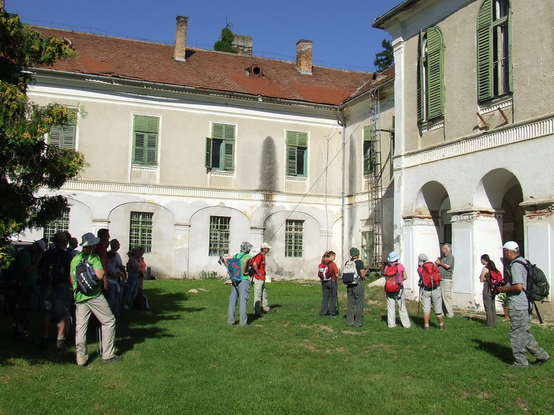
<svg viewBox="0 0 554 415">
<path fill-rule="evenodd" d="M 533 323 L 530 315 L 528 290 L 528 261 L 519 255 L 519 246 L 509 241 L 502 247 L 504 257 L 511 261 L 508 269 L 510 275 L 506 278 L 506 286 L 499 286 L 499 293 L 506 293 L 510 313 L 510 342 L 515 362 L 508 369 L 519 369 L 529 366 L 526 351 L 535 356 L 533 365 L 542 365 L 550 360 L 548 353 L 539 346 L 530 332 Z"/>
</svg>

